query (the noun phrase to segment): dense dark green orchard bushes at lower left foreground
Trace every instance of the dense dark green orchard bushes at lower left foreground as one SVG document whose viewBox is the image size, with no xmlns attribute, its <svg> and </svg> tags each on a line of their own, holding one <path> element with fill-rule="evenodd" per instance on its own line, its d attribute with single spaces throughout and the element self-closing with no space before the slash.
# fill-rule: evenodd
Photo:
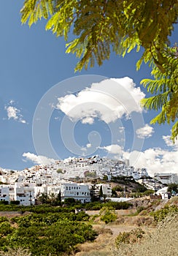
<svg viewBox="0 0 178 256">
<path fill-rule="evenodd" d="M 36 256 L 69 255 L 77 244 L 96 238 L 92 226 L 82 222 L 88 218 L 84 212 L 30 214 L 12 218 L 11 222 L 17 224 L 16 228 L 10 227 L 9 222 L 0 224 L 1 249 L 7 251 L 9 247 L 23 247 Z"/>
</svg>

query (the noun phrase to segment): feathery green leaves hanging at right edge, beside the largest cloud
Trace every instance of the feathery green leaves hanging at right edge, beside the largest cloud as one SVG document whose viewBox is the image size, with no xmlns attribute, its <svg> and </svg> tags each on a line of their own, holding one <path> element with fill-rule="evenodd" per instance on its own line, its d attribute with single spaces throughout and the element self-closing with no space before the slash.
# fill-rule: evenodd
<svg viewBox="0 0 178 256">
<path fill-rule="evenodd" d="M 152 64 L 151 75 L 154 80 L 144 79 L 142 84 L 147 87 L 150 94 L 156 94 L 153 97 L 142 99 L 142 106 L 149 110 L 160 110 L 158 116 L 152 119 L 151 124 L 174 124 L 171 130 L 171 139 L 174 141 L 178 135 L 178 48 L 166 47 L 162 56 L 163 72 L 158 65 Z"/>
</svg>

